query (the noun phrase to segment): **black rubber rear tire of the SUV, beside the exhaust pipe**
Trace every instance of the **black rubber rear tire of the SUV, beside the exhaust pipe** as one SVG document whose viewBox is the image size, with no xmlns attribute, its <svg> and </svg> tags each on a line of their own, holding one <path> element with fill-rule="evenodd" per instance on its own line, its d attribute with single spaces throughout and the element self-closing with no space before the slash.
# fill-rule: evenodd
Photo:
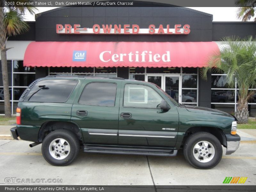
<svg viewBox="0 0 256 192">
<path fill-rule="evenodd" d="M 60 148 L 61 146 L 65 146 L 65 148 L 67 146 L 69 146 L 69 150 L 59 150 L 60 152 L 62 152 L 62 154 L 64 154 L 63 157 L 59 157 L 59 156 L 55 156 L 55 158 L 53 157 L 53 155 L 51 155 L 50 150 L 54 151 L 54 148 L 50 148 L 50 144 L 57 139 L 62 139 L 62 140 L 66 140 L 66 142 L 64 144 L 60 143 Z M 55 144 L 56 142 L 54 142 Z M 56 147 L 58 147 L 58 143 L 56 145 Z M 43 144 L 42 144 L 42 153 L 44 156 L 44 159 L 52 164 L 52 165 L 56 165 L 56 166 L 65 166 L 68 165 L 70 163 L 72 163 L 72 161 L 74 161 L 74 159 L 76 158 L 76 156 L 79 153 L 79 149 L 80 149 L 80 144 L 79 144 L 79 140 L 77 138 L 77 136 L 75 135 L 75 133 L 70 132 L 68 130 L 65 129 L 60 129 L 60 130 L 56 130 L 53 131 L 51 133 L 49 133 L 43 140 Z M 59 153 L 60 153 L 59 152 Z M 54 153 L 54 152 L 52 152 Z M 59 155 L 62 155 L 59 154 Z M 58 158 L 63 158 L 63 159 L 58 159 Z"/>
</svg>

